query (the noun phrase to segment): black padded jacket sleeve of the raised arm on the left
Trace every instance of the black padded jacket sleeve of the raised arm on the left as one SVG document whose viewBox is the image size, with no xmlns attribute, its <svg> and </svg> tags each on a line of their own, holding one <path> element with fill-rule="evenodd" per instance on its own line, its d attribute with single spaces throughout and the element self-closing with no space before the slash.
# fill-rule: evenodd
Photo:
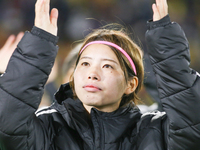
<svg viewBox="0 0 200 150">
<path fill-rule="evenodd" d="M 58 50 L 57 40 L 57 37 L 50 33 L 33 27 L 31 32 L 25 33 L 9 61 L 6 72 L 1 75 L 1 150 L 31 149 L 28 143 L 30 129 L 42 130 L 35 111 L 54 64 Z"/>
</svg>

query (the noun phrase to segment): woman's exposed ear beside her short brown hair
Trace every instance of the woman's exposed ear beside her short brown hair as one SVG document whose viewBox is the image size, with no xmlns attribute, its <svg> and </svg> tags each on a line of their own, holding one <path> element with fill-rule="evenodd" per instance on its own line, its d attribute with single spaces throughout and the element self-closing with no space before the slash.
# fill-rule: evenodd
<svg viewBox="0 0 200 150">
<path fill-rule="evenodd" d="M 126 88 L 124 94 L 128 95 L 128 94 L 134 92 L 135 89 L 137 88 L 137 86 L 138 86 L 138 78 L 136 76 L 134 76 L 133 79 L 128 81 L 127 88 Z"/>
</svg>

